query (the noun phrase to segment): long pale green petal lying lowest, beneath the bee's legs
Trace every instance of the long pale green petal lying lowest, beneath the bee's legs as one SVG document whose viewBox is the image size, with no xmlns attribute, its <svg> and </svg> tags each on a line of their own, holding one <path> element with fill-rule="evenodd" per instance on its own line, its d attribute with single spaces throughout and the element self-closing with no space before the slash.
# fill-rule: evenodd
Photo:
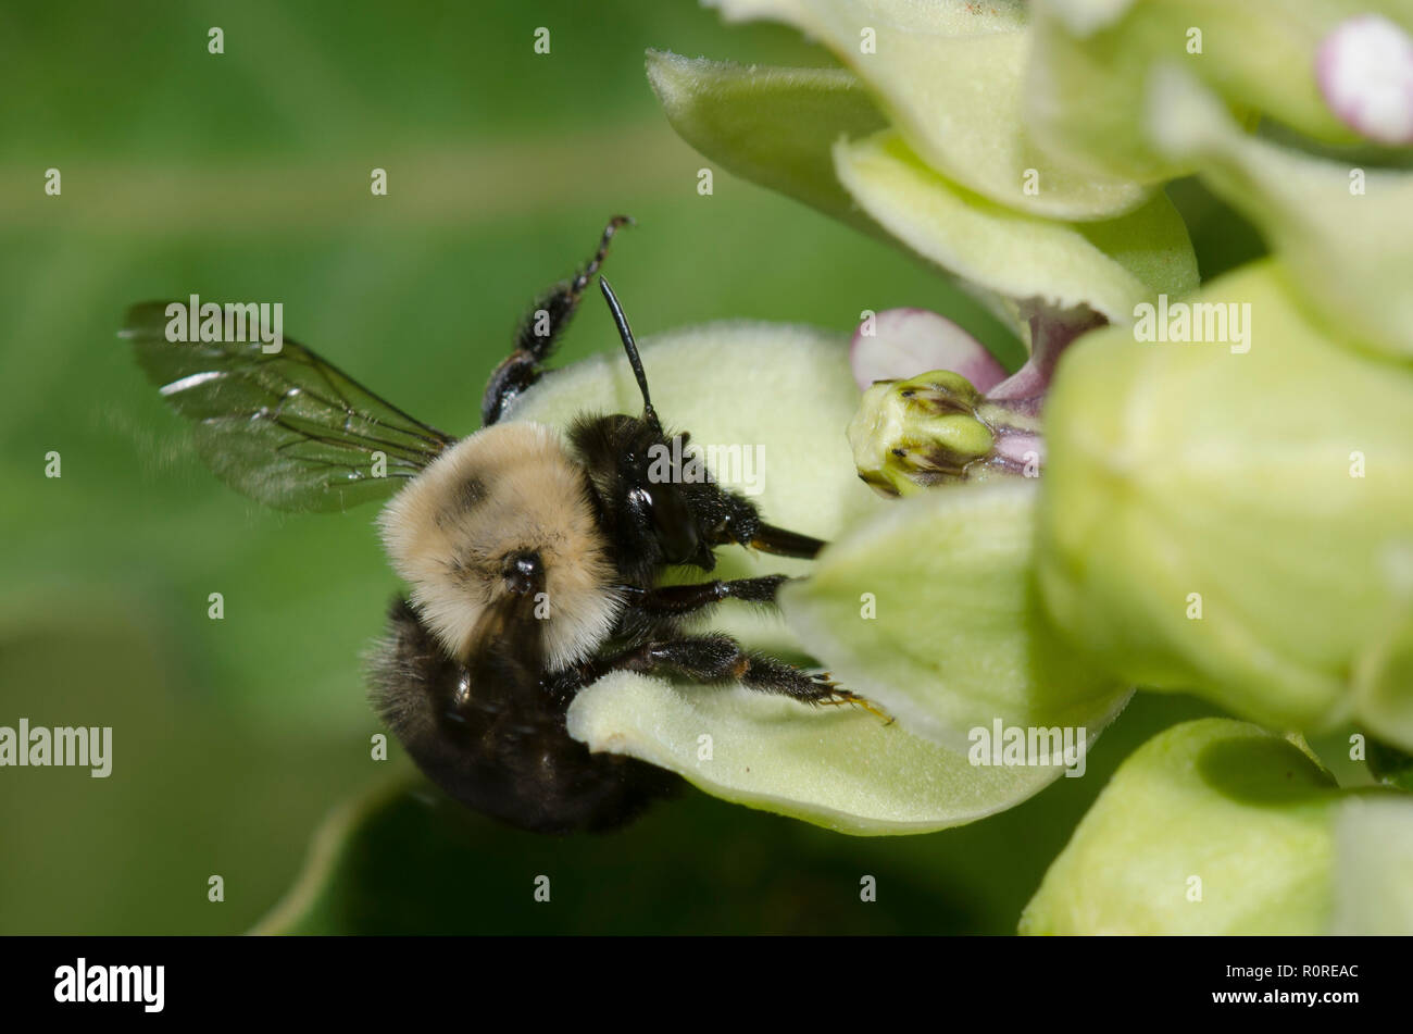
<svg viewBox="0 0 1413 1034">
<path fill-rule="evenodd" d="M 859 835 L 962 825 L 1019 804 L 1064 771 L 972 766 L 863 711 L 626 672 L 579 692 L 569 735 L 591 750 L 671 768 L 728 801 Z"/>
</svg>

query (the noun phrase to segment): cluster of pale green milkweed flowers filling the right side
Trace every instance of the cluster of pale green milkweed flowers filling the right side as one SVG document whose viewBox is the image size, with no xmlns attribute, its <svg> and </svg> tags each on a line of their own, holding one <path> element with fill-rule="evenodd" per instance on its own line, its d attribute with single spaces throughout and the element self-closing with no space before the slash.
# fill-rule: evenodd
<svg viewBox="0 0 1413 1034">
<path fill-rule="evenodd" d="M 1275 730 L 1358 720 L 1413 744 L 1413 188 L 1395 38 L 1413 13 L 1344 0 L 715 6 L 791 24 L 841 66 L 650 52 L 677 131 L 938 267 L 1030 357 L 1007 377 L 918 309 L 879 314 L 852 352 L 842 333 L 760 323 L 644 347 L 663 411 L 701 441 L 779 458 L 757 501 L 831 541 L 808 565 L 725 557 L 723 576 L 808 576 L 783 592 L 784 620 L 714 624 L 808 654 L 896 722 L 623 674 L 575 699 L 571 733 L 853 833 L 1012 807 L 1072 759 L 978 764 L 976 730 L 1075 727 L 1092 742 L 1135 684 L 1195 691 Z M 1383 16 L 1373 35 L 1349 21 L 1369 8 Z M 1382 64 L 1361 66 L 1378 73 L 1351 75 L 1375 37 Z M 1272 249 L 1201 291 L 1164 192 L 1191 174 Z M 732 372 L 746 366 L 769 373 L 742 383 Z M 626 370 L 592 360 L 513 415 L 554 424 L 633 393 Z M 1368 900 L 1347 890 L 1358 879 L 1331 876 L 1358 870 L 1338 845 L 1348 829 L 1405 829 L 1406 809 L 1352 804 L 1253 726 L 1164 737 L 1095 805 L 1026 929 L 1371 927 Z M 1194 784 L 1194 756 L 1225 776 Z M 1272 763 L 1308 792 L 1283 809 L 1232 805 Z M 1176 908 L 1183 862 L 1140 842 L 1147 825 L 1119 835 L 1164 794 L 1202 805 L 1194 836 L 1208 819 L 1248 824 L 1226 862 L 1208 857 L 1217 897 L 1202 913 Z M 1258 901 L 1249 862 L 1262 852 L 1273 874 Z M 1359 872 L 1407 893 L 1396 864 Z"/>
</svg>

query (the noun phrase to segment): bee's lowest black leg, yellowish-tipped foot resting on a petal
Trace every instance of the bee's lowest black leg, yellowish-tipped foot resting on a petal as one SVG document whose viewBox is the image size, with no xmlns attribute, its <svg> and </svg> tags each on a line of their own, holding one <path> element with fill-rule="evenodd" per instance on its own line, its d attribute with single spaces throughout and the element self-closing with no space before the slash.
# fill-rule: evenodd
<svg viewBox="0 0 1413 1034">
<path fill-rule="evenodd" d="M 740 682 L 747 689 L 815 706 L 852 703 L 887 722 L 893 720 L 863 696 L 835 685 L 828 674 L 810 674 L 769 654 L 743 650 L 731 636 L 687 636 L 646 643 L 579 665 L 575 674 L 582 679 L 578 685 L 584 687 L 610 671 L 680 675 L 706 685 Z"/>
</svg>

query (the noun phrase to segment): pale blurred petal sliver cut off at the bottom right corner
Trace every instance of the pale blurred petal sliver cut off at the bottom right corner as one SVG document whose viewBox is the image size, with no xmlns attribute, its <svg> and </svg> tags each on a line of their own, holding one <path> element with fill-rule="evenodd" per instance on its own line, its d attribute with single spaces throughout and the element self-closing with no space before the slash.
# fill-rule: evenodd
<svg viewBox="0 0 1413 1034">
<path fill-rule="evenodd" d="M 1413 797 L 1361 795 L 1335 818 L 1332 934 L 1413 937 Z"/>
</svg>

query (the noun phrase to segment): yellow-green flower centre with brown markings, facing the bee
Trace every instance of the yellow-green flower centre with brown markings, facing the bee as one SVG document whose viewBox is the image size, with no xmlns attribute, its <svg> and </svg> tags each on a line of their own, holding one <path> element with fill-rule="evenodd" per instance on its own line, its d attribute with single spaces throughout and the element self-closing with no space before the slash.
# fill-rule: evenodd
<svg viewBox="0 0 1413 1034">
<path fill-rule="evenodd" d="M 877 381 L 849 422 L 859 477 L 882 496 L 965 479 L 996 441 L 976 414 L 981 401 L 969 380 L 948 370 Z"/>
</svg>

